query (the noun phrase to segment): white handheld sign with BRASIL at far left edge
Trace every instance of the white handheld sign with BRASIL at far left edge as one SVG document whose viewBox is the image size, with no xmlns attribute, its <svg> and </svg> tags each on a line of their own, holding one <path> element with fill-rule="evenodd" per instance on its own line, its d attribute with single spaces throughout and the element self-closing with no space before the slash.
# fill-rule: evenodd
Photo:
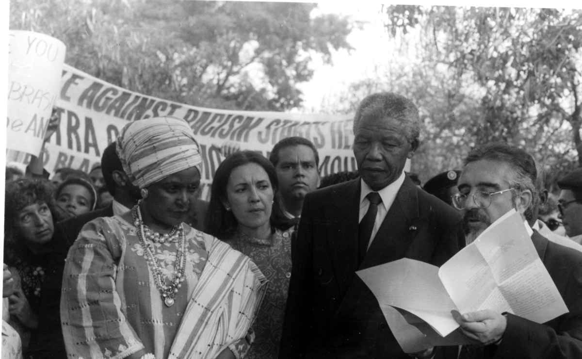
<svg viewBox="0 0 582 359">
<path fill-rule="evenodd" d="M 66 47 L 32 31 L 9 33 L 7 159 L 22 151 L 38 155 L 61 89 Z"/>
</svg>

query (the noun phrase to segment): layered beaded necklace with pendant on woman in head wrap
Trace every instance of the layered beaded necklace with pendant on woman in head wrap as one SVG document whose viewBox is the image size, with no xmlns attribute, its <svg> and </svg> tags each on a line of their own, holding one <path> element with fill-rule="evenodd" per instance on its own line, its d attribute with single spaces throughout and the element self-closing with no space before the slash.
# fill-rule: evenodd
<svg viewBox="0 0 582 359">
<path fill-rule="evenodd" d="M 155 236 L 152 234 L 154 233 L 152 230 L 145 229 L 143 219 L 141 218 L 140 202 L 141 200 L 132 208 L 133 224 L 138 229 L 137 237 L 140 240 L 141 247 L 144 248 L 145 258 L 148 266 L 150 266 L 152 271 L 155 286 L 159 290 L 159 293 L 162 295 L 162 299 L 164 299 L 164 304 L 166 304 L 166 307 L 171 307 L 175 303 L 174 298 L 176 297 L 176 294 L 178 294 L 178 289 L 182 286 L 182 282 L 184 282 L 184 279 L 186 278 L 184 272 L 186 271 L 187 243 L 186 236 L 184 236 L 184 228 L 182 224 L 176 226 L 172 229 L 172 232 L 168 233 L 163 240 L 161 238 L 164 237 L 164 235 L 155 233 L 158 234 L 158 236 Z M 178 253 L 176 253 L 176 273 L 168 285 L 166 284 L 161 266 L 159 265 L 157 258 L 155 258 L 155 250 L 151 242 L 154 241 L 164 243 L 164 241 L 173 240 L 175 237 L 178 237 L 179 240 Z"/>
</svg>

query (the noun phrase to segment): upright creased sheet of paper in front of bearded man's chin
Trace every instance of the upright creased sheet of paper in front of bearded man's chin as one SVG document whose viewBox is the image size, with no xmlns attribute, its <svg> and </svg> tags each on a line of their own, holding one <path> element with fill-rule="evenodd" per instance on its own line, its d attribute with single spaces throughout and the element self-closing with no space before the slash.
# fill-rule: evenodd
<svg viewBox="0 0 582 359">
<path fill-rule="evenodd" d="M 514 209 L 439 269 L 459 311 L 491 309 L 543 323 L 567 307 Z"/>
</svg>

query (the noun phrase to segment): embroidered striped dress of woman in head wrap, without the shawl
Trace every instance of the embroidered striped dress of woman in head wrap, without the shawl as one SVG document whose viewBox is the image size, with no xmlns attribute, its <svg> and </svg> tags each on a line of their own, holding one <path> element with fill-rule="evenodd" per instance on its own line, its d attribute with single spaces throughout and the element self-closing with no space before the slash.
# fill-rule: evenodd
<svg viewBox="0 0 582 359">
<path fill-rule="evenodd" d="M 129 218 L 125 218 L 129 215 Z M 69 250 L 63 274 L 61 318 L 69 356 L 123 358 L 140 349 L 167 358 L 189 298 L 207 262 L 203 232 L 186 225 L 186 279 L 168 307 L 154 285 L 131 214 L 87 223 Z M 153 243 L 166 277 L 173 278 L 178 241 Z M 85 328 L 79 330 L 79 328 Z M 87 343 L 77 347 L 78 343 Z M 229 346 L 249 347 L 246 339 Z M 78 356 L 77 354 L 75 354 Z"/>
</svg>

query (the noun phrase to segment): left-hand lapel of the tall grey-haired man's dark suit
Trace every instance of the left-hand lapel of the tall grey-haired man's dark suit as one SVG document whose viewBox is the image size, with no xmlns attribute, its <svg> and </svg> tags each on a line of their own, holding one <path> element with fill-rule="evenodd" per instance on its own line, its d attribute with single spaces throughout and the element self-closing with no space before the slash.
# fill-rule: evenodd
<svg viewBox="0 0 582 359">
<path fill-rule="evenodd" d="M 329 228 L 328 249 L 332 253 L 333 272 L 340 293 L 352 282 L 358 263 L 358 219 L 360 212 L 360 179 L 346 183 L 333 194 L 337 228 Z"/>
</svg>

